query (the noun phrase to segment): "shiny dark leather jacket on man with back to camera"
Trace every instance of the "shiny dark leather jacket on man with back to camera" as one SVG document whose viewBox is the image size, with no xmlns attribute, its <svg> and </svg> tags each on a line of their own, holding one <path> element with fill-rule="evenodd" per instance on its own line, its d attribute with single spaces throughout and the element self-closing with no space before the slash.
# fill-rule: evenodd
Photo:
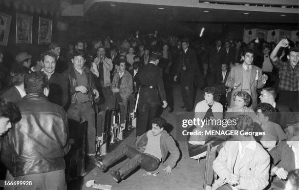
<svg viewBox="0 0 299 190">
<path fill-rule="evenodd" d="M 30 93 L 17 104 L 22 119 L 2 141 L 1 159 L 13 176 L 65 169 L 67 115 L 44 95 Z"/>
</svg>

